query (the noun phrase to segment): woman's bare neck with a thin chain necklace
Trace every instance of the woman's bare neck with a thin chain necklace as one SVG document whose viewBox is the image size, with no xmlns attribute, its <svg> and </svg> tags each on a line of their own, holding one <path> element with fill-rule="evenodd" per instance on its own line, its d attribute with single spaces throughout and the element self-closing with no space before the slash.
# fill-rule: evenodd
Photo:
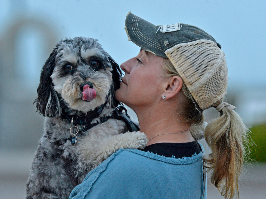
<svg viewBox="0 0 266 199">
<path fill-rule="evenodd" d="M 136 110 L 136 114 L 139 119 L 140 131 L 144 132 L 149 140 L 147 145 L 160 142 L 194 141 L 189 132 L 189 126 L 178 122 L 177 118 L 174 116 L 173 110 L 167 107 L 145 107 L 145 110 Z"/>
</svg>

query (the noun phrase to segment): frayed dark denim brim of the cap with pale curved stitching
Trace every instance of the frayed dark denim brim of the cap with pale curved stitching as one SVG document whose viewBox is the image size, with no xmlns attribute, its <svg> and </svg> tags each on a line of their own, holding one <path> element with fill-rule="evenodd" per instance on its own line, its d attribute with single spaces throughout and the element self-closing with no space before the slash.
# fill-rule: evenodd
<svg viewBox="0 0 266 199">
<path fill-rule="evenodd" d="M 136 45 L 153 54 L 167 58 L 156 36 L 156 25 L 129 12 L 126 16 L 125 29 L 128 38 Z"/>
</svg>

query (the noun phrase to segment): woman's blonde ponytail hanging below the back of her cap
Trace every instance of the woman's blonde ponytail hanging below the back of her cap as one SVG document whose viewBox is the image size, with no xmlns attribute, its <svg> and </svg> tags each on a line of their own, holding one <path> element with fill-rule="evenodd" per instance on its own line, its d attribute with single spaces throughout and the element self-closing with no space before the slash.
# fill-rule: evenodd
<svg viewBox="0 0 266 199">
<path fill-rule="evenodd" d="M 212 106 L 217 107 L 222 99 Z M 205 167 L 213 169 L 211 183 L 225 198 L 238 196 L 238 179 L 246 157 L 244 144 L 249 135 L 240 116 L 229 107 L 224 107 L 220 116 L 207 125 L 205 140 L 211 148 L 209 158 L 204 158 Z"/>
</svg>

